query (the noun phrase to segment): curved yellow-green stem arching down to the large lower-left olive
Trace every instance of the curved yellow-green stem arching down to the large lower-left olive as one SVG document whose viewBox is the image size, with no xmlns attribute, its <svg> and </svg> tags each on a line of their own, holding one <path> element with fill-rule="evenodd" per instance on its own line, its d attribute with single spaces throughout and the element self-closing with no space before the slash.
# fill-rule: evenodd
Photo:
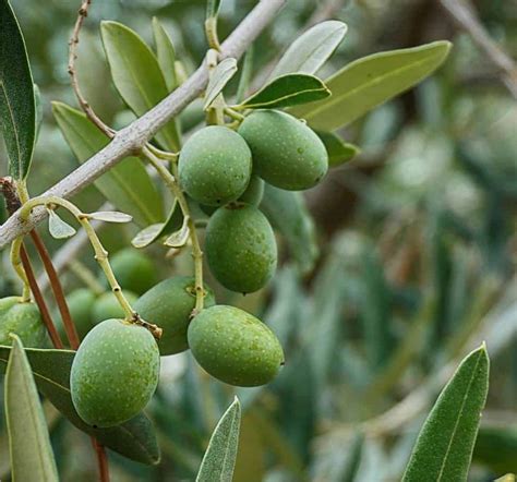
<svg viewBox="0 0 517 482">
<path fill-rule="evenodd" d="M 108 280 L 108 284 L 111 287 L 111 291 L 113 292 L 120 306 L 122 308 L 124 312 L 125 321 L 131 322 L 131 323 L 135 322 L 135 320 L 137 320 L 139 316 L 136 312 L 133 311 L 133 309 L 131 308 L 131 304 L 125 299 L 122 292 L 122 289 L 120 288 L 120 285 L 118 284 L 117 278 L 115 277 L 113 270 L 111 269 L 111 265 L 109 264 L 109 261 L 108 261 L 108 252 L 104 249 L 99 237 L 95 232 L 95 229 L 92 227 L 88 215 L 82 213 L 70 201 L 63 200 L 58 196 L 41 196 L 41 197 L 34 197 L 22 206 L 20 210 L 20 219 L 22 221 L 27 220 L 28 216 L 31 215 L 31 212 L 36 206 L 40 206 L 40 205 L 45 205 L 47 207 L 51 207 L 52 205 L 61 206 L 65 208 L 67 210 L 69 210 L 77 219 L 77 221 L 86 231 L 86 234 L 89 239 L 92 248 L 94 249 L 94 252 L 95 252 L 95 260 L 97 260 L 97 263 L 100 265 L 100 268 L 103 269 L 106 276 L 106 279 Z"/>
</svg>

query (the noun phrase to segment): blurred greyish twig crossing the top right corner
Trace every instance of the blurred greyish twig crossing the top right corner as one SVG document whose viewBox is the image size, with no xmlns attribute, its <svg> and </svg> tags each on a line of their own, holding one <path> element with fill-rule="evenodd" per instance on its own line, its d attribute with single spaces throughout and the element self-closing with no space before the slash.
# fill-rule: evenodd
<svg viewBox="0 0 517 482">
<path fill-rule="evenodd" d="M 509 93 L 517 99 L 517 65 L 514 60 L 490 37 L 476 17 L 467 0 L 440 0 L 447 14 L 484 51 L 489 60 L 500 70 L 501 80 Z"/>
</svg>

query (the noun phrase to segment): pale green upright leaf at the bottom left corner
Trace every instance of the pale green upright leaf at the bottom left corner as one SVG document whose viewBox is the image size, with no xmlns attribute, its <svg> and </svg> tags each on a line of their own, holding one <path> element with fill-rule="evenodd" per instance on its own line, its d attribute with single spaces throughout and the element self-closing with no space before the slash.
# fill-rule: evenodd
<svg viewBox="0 0 517 482">
<path fill-rule="evenodd" d="M 31 365 L 17 336 L 5 371 L 5 419 L 12 479 L 58 481 L 47 422 Z"/>
</svg>

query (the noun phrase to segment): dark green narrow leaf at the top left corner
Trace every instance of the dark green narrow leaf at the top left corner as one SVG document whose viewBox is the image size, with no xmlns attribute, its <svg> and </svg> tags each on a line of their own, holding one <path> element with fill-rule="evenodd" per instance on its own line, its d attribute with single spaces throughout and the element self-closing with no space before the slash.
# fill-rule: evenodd
<svg viewBox="0 0 517 482">
<path fill-rule="evenodd" d="M 8 0 L 0 0 L 0 123 L 9 174 L 27 177 L 36 138 L 34 84 L 23 34 Z"/>
</svg>

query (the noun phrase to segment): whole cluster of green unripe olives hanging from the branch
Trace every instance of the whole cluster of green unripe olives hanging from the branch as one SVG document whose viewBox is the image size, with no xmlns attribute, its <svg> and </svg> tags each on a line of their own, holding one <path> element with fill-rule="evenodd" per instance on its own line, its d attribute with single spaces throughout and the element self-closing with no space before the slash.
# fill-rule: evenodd
<svg viewBox="0 0 517 482">
<path fill-rule="evenodd" d="M 280 111 L 255 111 L 237 132 L 211 125 L 189 138 L 179 157 L 179 182 L 211 215 L 204 251 L 223 286 L 250 293 L 274 275 L 275 236 L 258 208 L 264 183 L 304 190 L 327 168 L 318 136 Z M 123 320 L 111 292 L 98 297 L 81 289 L 69 296 L 84 337 L 72 364 L 71 395 L 86 423 L 107 427 L 136 415 L 156 389 L 160 356 L 190 349 L 206 372 L 237 386 L 263 385 L 278 373 L 284 352 L 275 334 L 243 310 L 216 304 L 206 284 L 199 311 L 193 277 L 156 284 L 153 263 L 133 250 L 117 253 L 111 265 L 135 312 L 159 326 L 163 336 L 156 341 L 143 324 Z M 1 342 L 10 345 L 8 332 L 17 333 L 26 346 L 44 342 L 37 308 L 17 298 L 0 300 L 0 327 Z"/>
</svg>

